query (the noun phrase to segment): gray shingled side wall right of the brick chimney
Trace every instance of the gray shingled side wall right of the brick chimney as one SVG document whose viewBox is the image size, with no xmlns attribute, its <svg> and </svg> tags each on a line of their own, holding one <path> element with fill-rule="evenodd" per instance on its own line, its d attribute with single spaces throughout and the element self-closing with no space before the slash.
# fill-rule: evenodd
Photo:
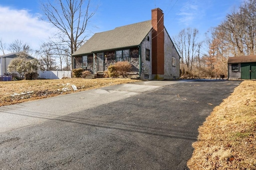
<svg viewBox="0 0 256 170">
<path fill-rule="evenodd" d="M 172 57 L 176 58 L 176 66 L 172 66 Z M 164 79 L 176 79 L 180 77 L 180 57 L 175 48 L 173 48 L 173 43 L 164 30 Z"/>
</svg>

